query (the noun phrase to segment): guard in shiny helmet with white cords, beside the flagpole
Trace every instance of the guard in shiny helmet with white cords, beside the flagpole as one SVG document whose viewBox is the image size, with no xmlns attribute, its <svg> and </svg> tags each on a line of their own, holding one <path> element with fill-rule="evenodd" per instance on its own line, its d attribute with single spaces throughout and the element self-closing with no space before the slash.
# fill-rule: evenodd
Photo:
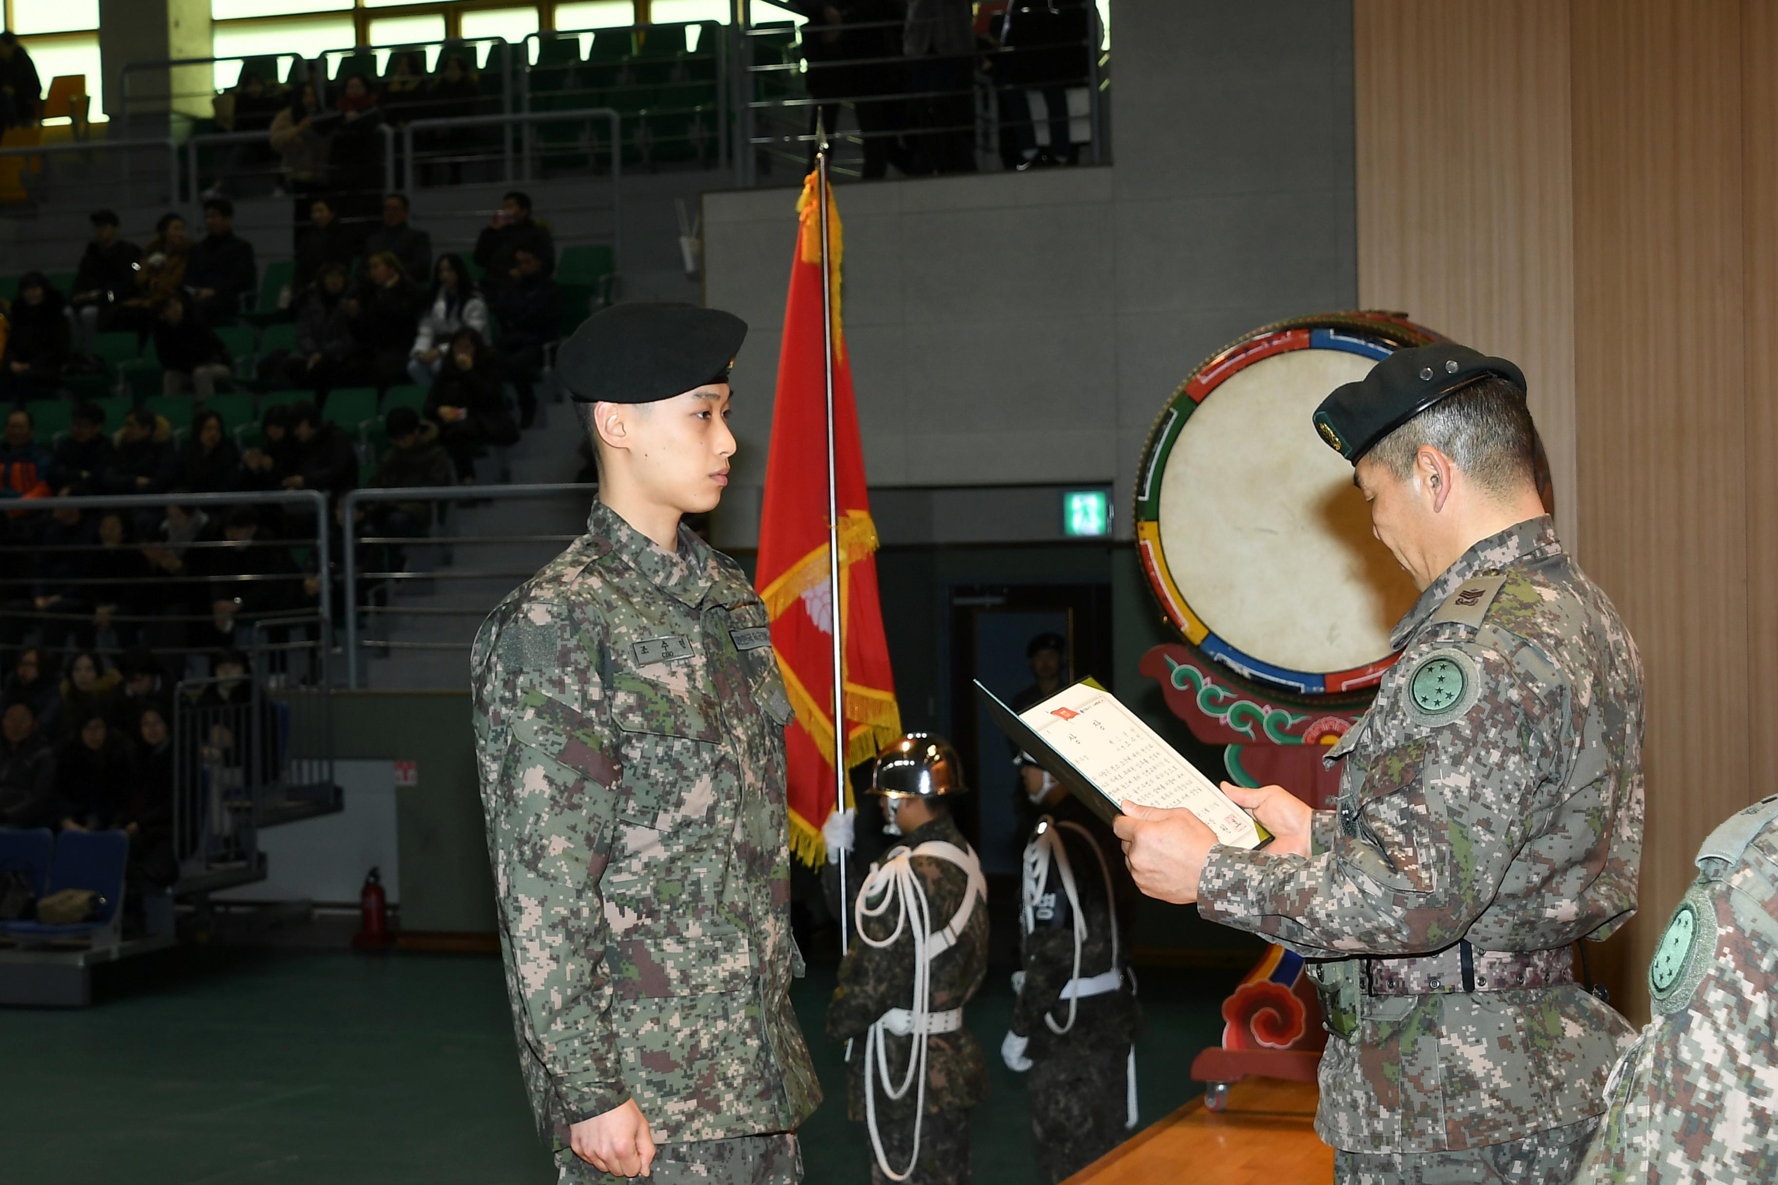
<svg viewBox="0 0 1778 1185">
<path fill-rule="evenodd" d="M 987 1093 L 987 1066 L 964 1004 L 987 975 L 989 890 L 946 801 L 967 789 L 957 750 L 923 732 L 871 771 L 901 842 L 853 903 L 827 1036 L 846 1043 L 846 1114 L 869 1132 L 873 1185 L 969 1181 L 969 1109 Z"/>
</svg>

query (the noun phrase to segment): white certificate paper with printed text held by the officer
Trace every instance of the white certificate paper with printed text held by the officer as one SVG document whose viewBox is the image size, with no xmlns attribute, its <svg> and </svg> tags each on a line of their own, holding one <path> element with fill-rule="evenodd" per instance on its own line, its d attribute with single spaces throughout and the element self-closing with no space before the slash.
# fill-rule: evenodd
<svg viewBox="0 0 1778 1185">
<path fill-rule="evenodd" d="M 1077 682 L 1019 712 L 1019 720 L 1113 805 L 1127 799 L 1141 807 L 1184 807 L 1230 847 L 1259 847 L 1264 839 L 1220 785 L 1109 691 Z"/>
</svg>

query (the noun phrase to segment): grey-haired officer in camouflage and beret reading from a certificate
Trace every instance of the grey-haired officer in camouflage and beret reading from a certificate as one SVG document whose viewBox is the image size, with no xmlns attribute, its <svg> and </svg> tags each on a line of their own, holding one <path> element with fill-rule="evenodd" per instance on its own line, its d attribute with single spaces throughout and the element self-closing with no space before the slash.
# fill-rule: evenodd
<svg viewBox="0 0 1778 1185">
<path fill-rule="evenodd" d="M 1572 943 L 1636 910 L 1641 659 L 1545 515 L 1524 391 L 1440 343 L 1316 410 L 1422 590 L 1326 753 L 1337 810 L 1227 787 L 1277 835 L 1262 851 L 1184 810 L 1117 821 L 1138 888 L 1317 961 L 1316 1130 L 1342 1181 L 1568 1181 L 1630 1038 Z"/>
</svg>

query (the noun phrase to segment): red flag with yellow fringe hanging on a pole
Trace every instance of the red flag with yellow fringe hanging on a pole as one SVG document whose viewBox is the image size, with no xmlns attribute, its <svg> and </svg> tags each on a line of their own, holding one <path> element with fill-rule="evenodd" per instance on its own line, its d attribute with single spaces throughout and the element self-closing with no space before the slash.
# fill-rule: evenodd
<svg viewBox="0 0 1778 1185">
<path fill-rule="evenodd" d="M 827 858 L 821 823 L 834 810 L 834 638 L 827 553 L 827 373 L 821 334 L 821 210 L 816 174 L 797 201 L 800 229 L 784 304 L 772 451 L 759 519 L 759 595 L 797 723 L 786 736 L 789 842 L 807 863 Z M 877 595 L 877 526 L 839 320 L 839 210 L 827 197 L 834 309 L 834 496 L 839 508 L 839 634 L 845 762 L 871 760 L 901 736 Z"/>
</svg>

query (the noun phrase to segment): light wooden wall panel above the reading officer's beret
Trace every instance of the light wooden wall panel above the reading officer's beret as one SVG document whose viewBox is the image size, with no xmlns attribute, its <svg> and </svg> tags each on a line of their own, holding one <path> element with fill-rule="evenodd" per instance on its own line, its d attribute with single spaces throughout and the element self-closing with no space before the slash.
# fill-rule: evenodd
<svg viewBox="0 0 1778 1185">
<path fill-rule="evenodd" d="M 1353 75 L 1358 300 L 1524 368 L 1572 538 L 1568 9 L 1357 0 Z"/>
</svg>

